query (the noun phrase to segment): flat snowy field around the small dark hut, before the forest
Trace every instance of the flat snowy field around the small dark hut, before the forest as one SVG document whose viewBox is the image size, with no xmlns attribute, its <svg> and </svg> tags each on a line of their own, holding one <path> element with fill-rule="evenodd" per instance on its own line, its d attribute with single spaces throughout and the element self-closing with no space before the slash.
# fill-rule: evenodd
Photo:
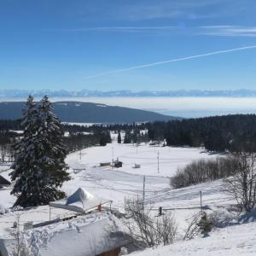
<svg viewBox="0 0 256 256">
<path fill-rule="evenodd" d="M 158 172 L 159 152 L 159 172 Z M 79 159 L 81 155 L 81 160 Z M 73 174 L 73 180 L 65 183 L 67 194 L 74 188 L 84 187 L 90 193 L 113 199 L 113 207 L 123 207 L 125 197 L 143 194 L 143 176 L 146 176 L 146 200 L 160 201 L 171 191 L 170 178 L 178 166 L 185 166 L 192 160 L 214 158 L 199 148 L 139 147 L 131 144 L 108 144 L 106 147 L 84 149 L 81 154 L 69 154 L 67 163 L 73 166 L 84 165 L 85 171 Z M 121 168 L 99 167 L 100 163 L 123 162 Z M 133 168 L 135 164 L 141 168 Z"/>
</svg>

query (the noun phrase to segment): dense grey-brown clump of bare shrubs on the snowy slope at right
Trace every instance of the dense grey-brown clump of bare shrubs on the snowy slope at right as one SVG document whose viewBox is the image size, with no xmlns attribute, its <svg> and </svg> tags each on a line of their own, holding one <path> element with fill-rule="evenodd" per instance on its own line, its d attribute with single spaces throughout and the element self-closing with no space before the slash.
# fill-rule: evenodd
<svg viewBox="0 0 256 256">
<path fill-rule="evenodd" d="M 197 183 L 230 177 L 236 173 L 237 162 L 233 157 L 218 157 L 215 160 L 195 160 L 189 165 L 178 168 L 171 178 L 173 188 L 183 188 Z"/>
</svg>

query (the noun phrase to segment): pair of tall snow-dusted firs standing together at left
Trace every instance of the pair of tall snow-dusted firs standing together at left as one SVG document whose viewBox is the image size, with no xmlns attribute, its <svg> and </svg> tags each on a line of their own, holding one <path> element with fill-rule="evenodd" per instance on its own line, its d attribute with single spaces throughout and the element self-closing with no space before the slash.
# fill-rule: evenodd
<svg viewBox="0 0 256 256">
<path fill-rule="evenodd" d="M 12 166 L 11 179 L 15 187 L 15 206 L 33 207 L 61 199 L 58 190 L 69 179 L 62 143 L 61 123 L 51 112 L 51 104 L 44 96 L 38 108 L 29 96 L 22 116 L 24 136 L 15 144 L 17 157 Z"/>
</svg>

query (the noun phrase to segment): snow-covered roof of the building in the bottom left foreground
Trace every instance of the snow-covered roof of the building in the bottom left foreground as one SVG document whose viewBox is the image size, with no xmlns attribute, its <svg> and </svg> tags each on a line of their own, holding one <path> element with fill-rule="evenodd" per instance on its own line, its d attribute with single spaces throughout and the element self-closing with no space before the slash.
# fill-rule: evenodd
<svg viewBox="0 0 256 256">
<path fill-rule="evenodd" d="M 131 242 L 124 225 L 108 212 L 27 230 L 24 237 L 30 250 L 36 250 L 40 256 L 95 256 Z M 4 254 L 5 249 L 10 253 L 15 240 L 0 241 L 0 246 L 2 243 L 3 256 L 9 256 Z"/>
</svg>

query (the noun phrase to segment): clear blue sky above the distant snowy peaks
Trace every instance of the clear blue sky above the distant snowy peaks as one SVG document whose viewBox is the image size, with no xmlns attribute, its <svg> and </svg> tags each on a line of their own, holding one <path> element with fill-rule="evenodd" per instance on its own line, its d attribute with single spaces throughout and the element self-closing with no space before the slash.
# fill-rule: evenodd
<svg viewBox="0 0 256 256">
<path fill-rule="evenodd" d="M 115 73 L 256 45 L 255 9 L 254 0 L 1 0 L 0 89 L 255 89 L 256 49 Z"/>
</svg>

